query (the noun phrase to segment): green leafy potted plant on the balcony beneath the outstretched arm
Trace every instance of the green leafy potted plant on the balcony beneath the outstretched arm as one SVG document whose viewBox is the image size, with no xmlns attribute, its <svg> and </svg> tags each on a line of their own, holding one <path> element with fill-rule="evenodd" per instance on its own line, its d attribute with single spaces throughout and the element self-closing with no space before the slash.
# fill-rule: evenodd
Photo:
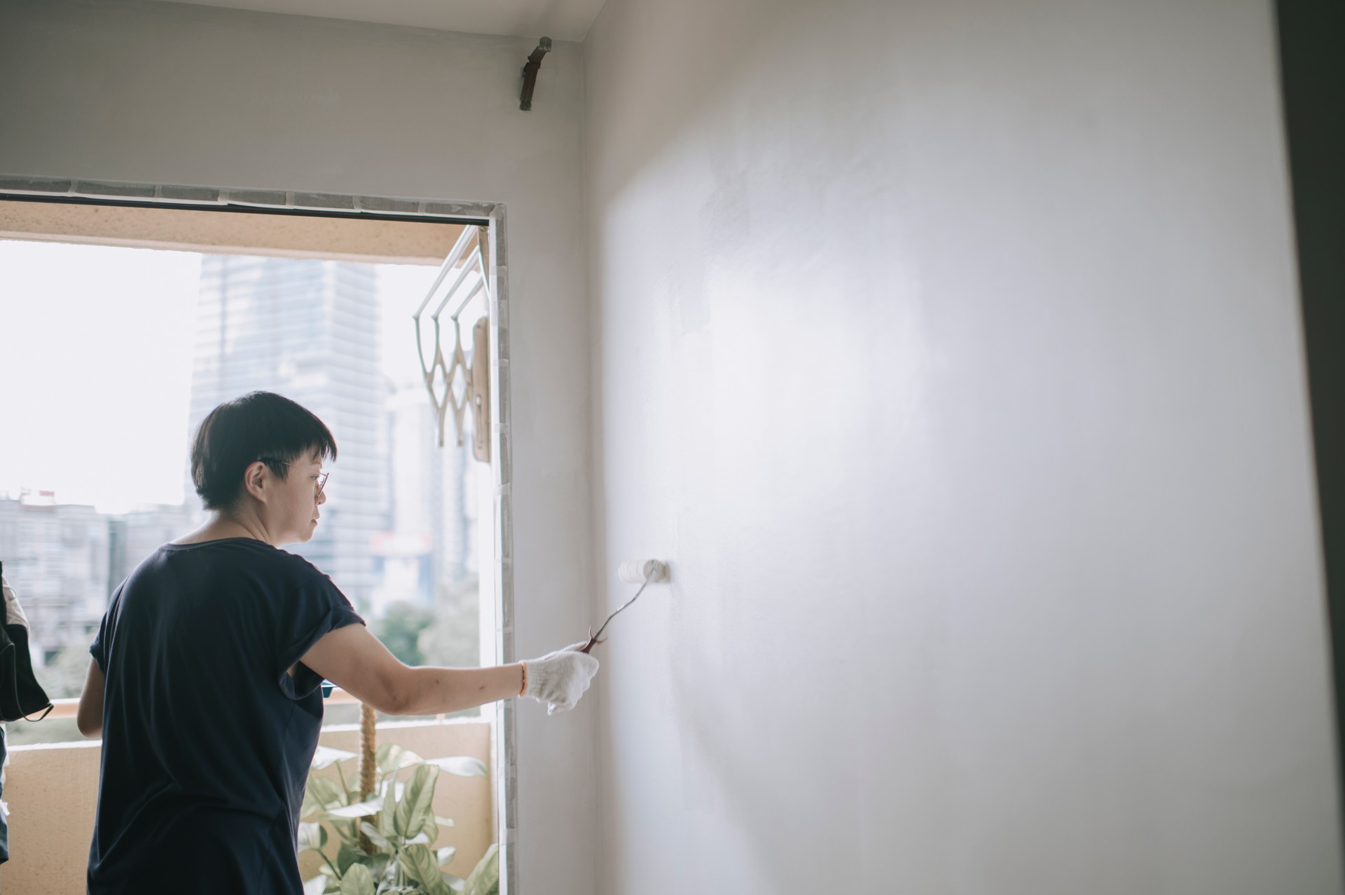
<svg viewBox="0 0 1345 895">
<path fill-rule="evenodd" d="M 344 762 L 356 758 L 321 746 L 313 755 L 299 812 L 299 851 L 317 852 L 323 865 L 304 883 L 304 895 L 499 894 L 495 845 L 465 879 L 443 869 L 457 849 L 434 849 L 438 828 L 453 825 L 451 818 L 433 813 L 438 774 L 486 777 L 479 759 L 424 759 L 399 746 L 383 744 L 377 752 L 375 791 L 362 798 L 359 781 L 343 768 Z M 327 767 L 335 768 L 335 778 L 317 774 Z M 325 852 L 332 836 L 340 841 L 335 860 Z"/>
</svg>

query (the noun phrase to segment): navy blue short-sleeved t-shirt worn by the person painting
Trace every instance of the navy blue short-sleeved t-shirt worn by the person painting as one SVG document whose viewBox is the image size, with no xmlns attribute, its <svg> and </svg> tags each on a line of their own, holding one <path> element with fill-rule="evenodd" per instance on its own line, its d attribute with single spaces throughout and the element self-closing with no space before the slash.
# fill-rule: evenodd
<svg viewBox="0 0 1345 895">
<path fill-rule="evenodd" d="M 108 678 L 90 895 L 303 891 L 323 700 L 289 669 L 352 623 L 330 577 L 252 538 L 165 544 L 130 573 L 89 647 Z"/>
</svg>

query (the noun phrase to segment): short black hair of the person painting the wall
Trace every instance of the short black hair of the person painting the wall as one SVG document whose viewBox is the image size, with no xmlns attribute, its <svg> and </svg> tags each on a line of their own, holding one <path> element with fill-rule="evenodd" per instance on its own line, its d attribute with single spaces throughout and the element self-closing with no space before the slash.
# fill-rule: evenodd
<svg viewBox="0 0 1345 895">
<path fill-rule="evenodd" d="M 249 392 L 206 416 L 191 445 L 191 480 L 207 510 L 227 510 L 243 470 L 262 460 L 281 479 L 289 463 L 319 454 L 336 459 L 336 439 L 307 408 L 270 392 Z"/>
</svg>

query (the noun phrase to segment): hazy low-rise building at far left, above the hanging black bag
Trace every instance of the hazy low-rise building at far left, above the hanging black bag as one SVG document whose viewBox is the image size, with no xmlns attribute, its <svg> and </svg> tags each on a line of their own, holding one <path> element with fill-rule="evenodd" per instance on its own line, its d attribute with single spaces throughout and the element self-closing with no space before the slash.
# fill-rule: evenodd
<svg viewBox="0 0 1345 895">
<path fill-rule="evenodd" d="M 36 662 L 89 646 L 108 606 L 106 515 L 56 503 L 51 491 L 0 498 L 0 561 L 28 616 Z"/>
</svg>

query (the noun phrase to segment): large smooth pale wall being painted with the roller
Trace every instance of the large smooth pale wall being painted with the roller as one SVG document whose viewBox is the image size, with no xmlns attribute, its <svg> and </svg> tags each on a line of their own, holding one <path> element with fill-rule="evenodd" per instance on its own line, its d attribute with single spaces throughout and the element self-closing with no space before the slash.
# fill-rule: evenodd
<svg viewBox="0 0 1345 895">
<path fill-rule="evenodd" d="M 599 891 L 1341 891 L 1272 36 L 608 1 Z"/>
</svg>

